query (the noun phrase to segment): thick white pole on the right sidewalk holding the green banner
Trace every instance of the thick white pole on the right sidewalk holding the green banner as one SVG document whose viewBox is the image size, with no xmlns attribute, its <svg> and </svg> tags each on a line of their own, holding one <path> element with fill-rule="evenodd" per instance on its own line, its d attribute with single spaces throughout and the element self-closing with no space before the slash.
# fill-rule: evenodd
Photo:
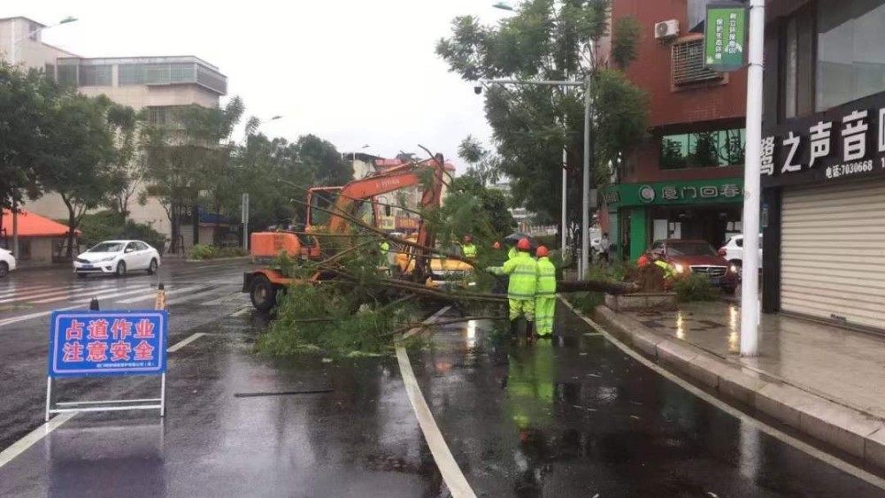
<svg viewBox="0 0 885 498">
<path fill-rule="evenodd" d="M 743 284 L 741 356 L 759 354 L 759 187 L 762 146 L 762 75 L 766 1 L 750 0 L 750 67 L 747 73 L 747 153 L 743 169 Z"/>
</svg>

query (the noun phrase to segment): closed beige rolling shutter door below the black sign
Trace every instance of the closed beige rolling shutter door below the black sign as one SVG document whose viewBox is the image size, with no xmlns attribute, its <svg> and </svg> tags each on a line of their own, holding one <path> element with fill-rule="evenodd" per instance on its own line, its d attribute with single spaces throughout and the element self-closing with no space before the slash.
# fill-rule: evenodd
<svg viewBox="0 0 885 498">
<path fill-rule="evenodd" d="M 781 310 L 885 329 L 885 180 L 783 194 Z"/>
</svg>

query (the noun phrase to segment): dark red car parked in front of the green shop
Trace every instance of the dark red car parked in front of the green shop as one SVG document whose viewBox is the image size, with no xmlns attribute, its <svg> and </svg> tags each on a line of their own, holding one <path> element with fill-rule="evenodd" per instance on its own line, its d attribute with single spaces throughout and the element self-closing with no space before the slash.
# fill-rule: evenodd
<svg viewBox="0 0 885 498">
<path fill-rule="evenodd" d="M 661 254 L 673 264 L 677 273 L 693 272 L 706 275 L 713 287 L 733 295 L 738 283 L 738 269 L 721 257 L 707 241 L 666 239 L 651 244 L 650 252 Z"/>
</svg>

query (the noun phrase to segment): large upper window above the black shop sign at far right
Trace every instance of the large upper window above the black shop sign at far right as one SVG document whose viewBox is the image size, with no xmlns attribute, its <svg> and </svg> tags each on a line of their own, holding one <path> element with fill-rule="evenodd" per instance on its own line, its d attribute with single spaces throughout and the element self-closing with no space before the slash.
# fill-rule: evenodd
<svg viewBox="0 0 885 498">
<path fill-rule="evenodd" d="M 885 3 L 818 2 L 818 111 L 885 91 Z"/>
</svg>

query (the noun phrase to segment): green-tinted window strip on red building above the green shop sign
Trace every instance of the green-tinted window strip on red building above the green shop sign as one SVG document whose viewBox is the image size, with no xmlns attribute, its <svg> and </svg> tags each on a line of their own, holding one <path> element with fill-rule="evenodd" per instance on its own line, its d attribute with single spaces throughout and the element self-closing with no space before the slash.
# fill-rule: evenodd
<svg viewBox="0 0 885 498">
<path fill-rule="evenodd" d="M 661 140 L 660 169 L 743 165 L 745 145 L 743 129 L 665 135 Z"/>
</svg>

